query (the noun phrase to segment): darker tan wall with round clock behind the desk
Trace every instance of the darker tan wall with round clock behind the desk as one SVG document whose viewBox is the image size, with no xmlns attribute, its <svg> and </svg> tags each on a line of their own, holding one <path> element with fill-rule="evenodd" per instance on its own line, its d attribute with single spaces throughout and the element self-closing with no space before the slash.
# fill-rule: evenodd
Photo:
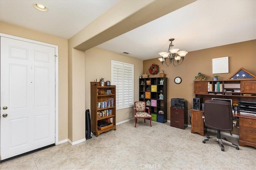
<svg viewBox="0 0 256 170">
<path fill-rule="evenodd" d="M 179 48 L 182 49 L 182 47 Z M 188 101 L 188 108 L 192 108 L 192 100 L 195 97 L 194 77 L 198 72 L 202 72 L 206 74 L 206 80 L 212 80 L 212 59 L 214 58 L 228 57 L 229 60 L 229 73 L 218 74 L 219 80 L 227 80 L 241 67 L 256 75 L 256 40 L 191 51 L 186 55 L 184 62 L 176 67 L 170 65 L 164 68 L 158 60 L 160 56 L 156 57 L 156 59 L 143 61 L 143 71 L 149 74 L 148 68 L 152 63 L 159 64 L 160 70 L 164 70 L 168 78 L 168 108 L 170 108 L 171 98 L 185 98 Z M 159 74 L 155 75 L 157 76 Z M 177 76 L 182 78 L 181 84 L 174 83 L 174 78 Z M 170 120 L 170 109 L 167 110 L 167 119 Z"/>
</svg>

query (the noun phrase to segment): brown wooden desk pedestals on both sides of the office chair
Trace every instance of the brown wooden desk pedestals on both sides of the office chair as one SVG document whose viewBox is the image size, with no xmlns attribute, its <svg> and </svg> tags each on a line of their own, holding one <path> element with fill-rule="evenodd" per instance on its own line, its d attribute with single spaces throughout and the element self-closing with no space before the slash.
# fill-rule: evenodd
<svg viewBox="0 0 256 170">
<path fill-rule="evenodd" d="M 191 109 L 191 133 L 204 136 L 207 128 L 202 118 L 204 111 Z M 239 117 L 239 145 L 256 148 L 256 116 L 234 113 Z"/>
</svg>

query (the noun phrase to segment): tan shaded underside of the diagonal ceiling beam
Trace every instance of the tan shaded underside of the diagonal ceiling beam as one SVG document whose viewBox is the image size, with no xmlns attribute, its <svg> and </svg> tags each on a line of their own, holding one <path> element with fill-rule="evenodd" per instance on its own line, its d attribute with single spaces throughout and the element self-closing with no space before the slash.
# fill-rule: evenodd
<svg viewBox="0 0 256 170">
<path fill-rule="evenodd" d="M 170 12 L 173 12 L 183 6 L 186 6 L 196 0 L 155 0 L 146 4 L 143 8 L 137 10 L 136 12 L 130 14 L 128 17 L 120 20 L 114 25 L 108 27 L 107 29 L 97 33 L 93 37 L 85 40 L 83 43 L 75 46 L 75 49 L 86 51 L 100 45 L 110 39 L 118 37 L 132 29 L 140 27 L 150 21 L 156 20 Z M 129 1 L 129 3 L 134 3 L 136 1 Z M 120 10 L 120 9 L 119 9 Z M 104 15 L 104 14 L 103 14 Z M 106 18 L 105 18 L 106 19 Z M 98 19 L 96 19 L 98 20 Z M 112 18 L 108 18 L 112 20 Z M 105 21 L 106 22 L 106 21 Z M 89 24 L 90 26 L 90 24 Z M 86 31 L 86 27 L 83 31 Z M 75 35 L 78 36 L 78 35 Z"/>
</svg>

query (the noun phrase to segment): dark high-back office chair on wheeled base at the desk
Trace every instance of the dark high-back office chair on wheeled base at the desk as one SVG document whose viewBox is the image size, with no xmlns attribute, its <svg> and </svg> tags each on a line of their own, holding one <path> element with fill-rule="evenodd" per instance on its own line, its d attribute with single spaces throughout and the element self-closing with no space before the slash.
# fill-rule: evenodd
<svg viewBox="0 0 256 170">
<path fill-rule="evenodd" d="M 210 136 L 207 135 L 207 139 L 204 139 L 203 143 L 215 140 L 220 144 L 222 151 L 225 150 L 223 143 L 236 147 L 236 149 L 239 150 L 238 145 L 228 142 L 225 138 L 221 139 L 220 137 L 220 131 L 233 131 L 234 123 L 236 122 L 233 122 L 233 113 L 229 102 L 206 100 L 204 102 L 204 124 L 206 127 L 218 130 L 218 132 L 217 138 L 210 139 Z"/>
</svg>

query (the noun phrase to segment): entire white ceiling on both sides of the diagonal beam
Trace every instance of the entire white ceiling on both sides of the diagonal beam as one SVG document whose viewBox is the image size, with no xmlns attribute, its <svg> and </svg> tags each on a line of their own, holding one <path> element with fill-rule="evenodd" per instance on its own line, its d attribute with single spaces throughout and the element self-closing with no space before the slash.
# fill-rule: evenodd
<svg viewBox="0 0 256 170">
<path fill-rule="evenodd" d="M 69 39 L 117 2 L 0 0 L 0 21 Z M 145 60 L 167 51 L 170 38 L 188 52 L 256 39 L 256 0 L 198 0 L 97 47 Z"/>
</svg>

